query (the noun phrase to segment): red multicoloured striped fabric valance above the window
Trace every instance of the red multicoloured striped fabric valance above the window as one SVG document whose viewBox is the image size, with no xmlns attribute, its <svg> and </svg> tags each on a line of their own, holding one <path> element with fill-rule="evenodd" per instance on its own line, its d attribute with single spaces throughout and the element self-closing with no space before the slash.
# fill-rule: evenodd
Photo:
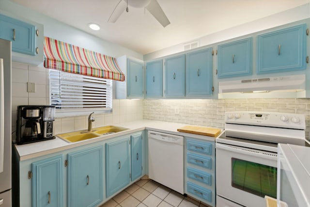
<svg viewBox="0 0 310 207">
<path fill-rule="evenodd" d="M 115 58 L 49 37 L 44 39 L 44 67 L 104 79 L 125 80 Z"/>
</svg>

